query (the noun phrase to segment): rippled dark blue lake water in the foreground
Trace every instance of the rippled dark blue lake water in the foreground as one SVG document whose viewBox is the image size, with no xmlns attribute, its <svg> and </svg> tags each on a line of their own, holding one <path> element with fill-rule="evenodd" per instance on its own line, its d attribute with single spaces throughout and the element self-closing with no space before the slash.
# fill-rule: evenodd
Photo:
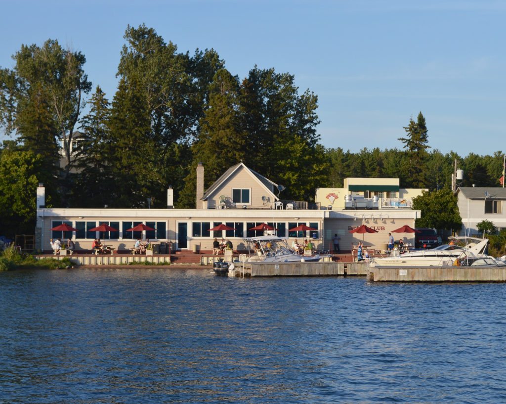
<svg viewBox="0 0 506 404">
<path fill-rule="evenodd" d="M 0 404 L 506 402 L 504 284 L 0 272 Z"/>
</svg>

